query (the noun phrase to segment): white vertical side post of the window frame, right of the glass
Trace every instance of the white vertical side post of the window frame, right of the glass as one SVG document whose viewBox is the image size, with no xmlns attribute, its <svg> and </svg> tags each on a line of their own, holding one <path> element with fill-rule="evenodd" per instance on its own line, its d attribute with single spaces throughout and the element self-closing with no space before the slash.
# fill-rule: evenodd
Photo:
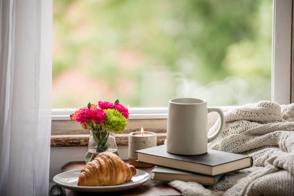
<svg viewBox="0 0 294 196">
<path fill-rule="evenodd" d="M 293 0 L 273 0 L 272 100 L 291 99 Z"/>
</svg>

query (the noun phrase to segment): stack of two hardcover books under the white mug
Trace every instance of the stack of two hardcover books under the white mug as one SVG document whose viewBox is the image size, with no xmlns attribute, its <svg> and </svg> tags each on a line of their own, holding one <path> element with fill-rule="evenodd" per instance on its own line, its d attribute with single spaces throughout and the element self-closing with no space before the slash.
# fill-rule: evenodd
<svg viewBox="0 0 294 196">
<path fill-rule="evenodd" d="M 175 155 L 166 151 L 166 145 L 137 150 L 139 163 L 157 165 L 152 170 L 153 180 L 182 180 L 215 185 L 228 172 L 251 167 L 247 155 L 208 149 L 203 155 Z"/>
</svg>

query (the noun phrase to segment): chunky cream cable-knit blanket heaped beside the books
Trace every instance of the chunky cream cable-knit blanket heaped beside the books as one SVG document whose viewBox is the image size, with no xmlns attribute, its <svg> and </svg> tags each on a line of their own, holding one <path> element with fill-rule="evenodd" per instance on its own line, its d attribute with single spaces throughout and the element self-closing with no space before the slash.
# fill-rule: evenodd
<svg viewBox="0 0 294 196">
<path fill-rule="evenodd" d="M 260 101 L 225 112 L 223 132 L 208 148 L 252 156 L 253 167 L 228 173 L 214 186 L 178 180 L 169 185 L 185 196 L 294 195 L 294 103 Z"/>
</svg>

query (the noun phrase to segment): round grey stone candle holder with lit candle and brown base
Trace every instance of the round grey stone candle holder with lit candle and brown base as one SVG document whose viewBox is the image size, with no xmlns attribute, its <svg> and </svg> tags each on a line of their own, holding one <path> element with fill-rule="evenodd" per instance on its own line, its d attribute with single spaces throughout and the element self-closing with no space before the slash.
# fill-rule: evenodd
<svg viewBox="0 0 294 196">
<path fill-rule="evenodd" d="M 129 150 L 129 163 L 135 167 L 153 167 L 154 165 L 149 165 L 145 163 L 137 163 L 138 154 L 135 153 L 136 150 L 141 150 L 145 148 L 151 148 L 156 146 L 156 133 L 150 131 L 144 131 L 144 136 L 141 135 L 140 131 L 132 132 L 129 134 L 128 140 L 128 150 Z"/>
</svg>

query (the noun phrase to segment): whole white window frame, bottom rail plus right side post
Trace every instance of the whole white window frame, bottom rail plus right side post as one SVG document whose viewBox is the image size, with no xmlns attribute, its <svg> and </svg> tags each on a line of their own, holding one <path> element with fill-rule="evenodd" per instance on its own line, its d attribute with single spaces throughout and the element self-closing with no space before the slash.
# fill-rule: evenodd
<svg viewBox="0 0 294 196">
<path fill-rule="evenodd" d="M 293 0 L 273 0 L 272 100 L 289 104 L 291 95 Z M 227 109 L 232 106 L 222 106 Z M 70 120 L 78 109 L 52 109 L 52 120 Z M 168 108 L 129 108 L 129 119 L 166 119 Z"/>
</svg>

